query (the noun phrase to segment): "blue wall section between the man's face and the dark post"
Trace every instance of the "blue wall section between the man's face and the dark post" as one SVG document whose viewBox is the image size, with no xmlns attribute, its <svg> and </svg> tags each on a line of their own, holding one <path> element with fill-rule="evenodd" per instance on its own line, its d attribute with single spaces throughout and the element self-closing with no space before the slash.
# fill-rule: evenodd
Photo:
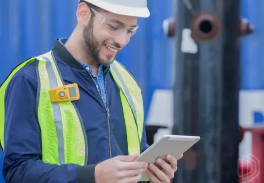
<svg viewBox="0 0 264 183">
<path fill-rule="evenodd" d="M 173 15 L 173 0 L 148 0 L 149 18 L 139 18 L 139 30 L 117 56 L 142 88 L 145 119 L 153 91 L 172 88 L 173 40 L 162 35 L 164 19 Z"/>
</svg>

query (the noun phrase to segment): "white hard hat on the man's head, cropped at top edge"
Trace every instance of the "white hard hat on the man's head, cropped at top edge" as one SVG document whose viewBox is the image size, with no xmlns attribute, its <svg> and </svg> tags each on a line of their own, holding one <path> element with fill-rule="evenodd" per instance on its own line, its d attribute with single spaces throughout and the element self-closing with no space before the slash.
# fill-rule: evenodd
<svg viewBox="0 0 264 183">
<path fill-rule="evenodd" d="M 149 17 L 150 11 L 147 7 L 147 0 L 85 0 L 109 12 L 134 16 Z"/>
</svg>

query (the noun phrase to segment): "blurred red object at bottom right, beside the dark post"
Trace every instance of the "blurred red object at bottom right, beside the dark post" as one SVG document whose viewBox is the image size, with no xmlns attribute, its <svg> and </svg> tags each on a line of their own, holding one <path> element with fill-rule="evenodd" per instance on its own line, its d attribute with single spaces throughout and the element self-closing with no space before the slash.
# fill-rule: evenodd
<svg viewBox="0 0 264 183">
<path fill-rule="evenodd" d="M 242 127 L 252 133 L 252 154 L 238 161 L 240 183 L 264 183 L 264 126 Z"/>
</svg>

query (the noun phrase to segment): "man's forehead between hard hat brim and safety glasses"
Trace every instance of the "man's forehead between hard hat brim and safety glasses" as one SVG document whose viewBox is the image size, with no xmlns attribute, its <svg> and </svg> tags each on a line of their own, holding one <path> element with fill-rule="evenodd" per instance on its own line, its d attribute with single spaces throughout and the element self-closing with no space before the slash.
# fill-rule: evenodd
<svg viewBox="0 0 264 183">
<path fill-rule="evenodd" d="M 127 27 L 132 27 L 137 25 L 137 17 L 119 15 L 102 9 L 98 10 L 98 12 L 103 16 L 105 16 L 108 20 L 123 23 Z"/>
</svg>

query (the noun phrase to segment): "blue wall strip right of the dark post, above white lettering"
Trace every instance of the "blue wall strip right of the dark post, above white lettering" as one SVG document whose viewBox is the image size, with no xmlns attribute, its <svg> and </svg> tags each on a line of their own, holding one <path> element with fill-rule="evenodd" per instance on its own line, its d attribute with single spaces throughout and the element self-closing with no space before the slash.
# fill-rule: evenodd
<svg viewBox="0 0 264 183">
<path fill-rule="evenodd" d="M 254 25 L 254 32 L 242 38 L 242 90 L 264 89 L 264 0 L 242 0 L 242 17 Z"/>
</svg>

